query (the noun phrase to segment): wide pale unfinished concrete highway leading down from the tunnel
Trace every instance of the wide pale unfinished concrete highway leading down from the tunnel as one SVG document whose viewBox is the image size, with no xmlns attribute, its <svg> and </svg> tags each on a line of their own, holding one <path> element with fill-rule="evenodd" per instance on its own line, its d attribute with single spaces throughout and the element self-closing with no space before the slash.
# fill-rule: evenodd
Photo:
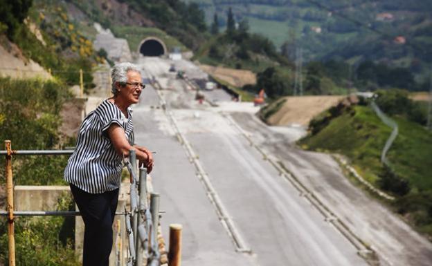
<svg viewBox="0 0 432 266">
<path fill-rule="evenodd" d="M 161 209 L 166 211 L 161 220 L 163 234 L 168 240 L 168 225 L 183 225 L 183 265 L 368 265 L 359 256 L 359 247 L 256 149 L 258 145 L 274 155 L 338 218 L 348 220 L 352 231 L 375 244 L 364 232 L 370 228 L 364 222 L 368 208 L 361 207 L 361 216 L 353 218 L 359 206 L 352 198 L 347 201 L 341 187 L 334 184 L 354 189 L 360 198 L 366 197 L 364 193 L 345 184 L 339 167 L 327 155 L 321 162 L 320 155 L 305 155 L 291 145 L 304 131 L 270 129 L 253 116 L 257 108 L 229 102 L 220 90 L 206 92 L 206 98 L 218 107 L 199 104 L 195 91 L 168 72 L 172 64 L 168 59 L 145 57 L 137 64 L 143 67 L 144 76 L 154 77 L 162 88 L 147 86 L 141 102 L 134 106 L 135 135 L 138 144 L 156 151 L 151 175 L 154 190 L 161 193 Z M 189 61 L 174 64 L 188 77 L 206 78 Z M 332 171 L 341 180 L 330 180 L 335 176 Z M 391 213 L 385 214 L 393 219 Z M 391 233 L 380 237 L 383 240 L 377 243 L 384 243 L 384 238 L 388 243 L 394 241 Z M 415 239 L 415 245 L 422 245 L 419 259 L 405 256 L 404 245 L 399 250 L 402 255 L 394 259 L 391 252 L 395 249 L 383 244 L 379 246 L 384 251 L 384 256 L 379 254 L 381 265 L 430 265 L 431 244 L 421 237 Z"/>
</svg>

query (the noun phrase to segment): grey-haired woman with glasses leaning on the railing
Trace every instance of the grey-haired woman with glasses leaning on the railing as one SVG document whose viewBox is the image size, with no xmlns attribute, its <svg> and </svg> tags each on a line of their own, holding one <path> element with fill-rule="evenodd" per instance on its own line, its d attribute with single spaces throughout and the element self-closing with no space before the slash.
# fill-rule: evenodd
<svg viewBox="0 0 432 266">
<path fill-rule="evenodd" d="M 64 179 L 84 220 L 83 266 L 109 263 L 123 158 L 134 149 L 149 173 L 153 167 L 152 153 L 134 145 L 129 106 L 138 103 L 145 88 L 140 71 L 134 64 L 117 64 L 111 77 L 114 97 L 105 99 L 85 117 L 64 170 Z"/>
</svg>

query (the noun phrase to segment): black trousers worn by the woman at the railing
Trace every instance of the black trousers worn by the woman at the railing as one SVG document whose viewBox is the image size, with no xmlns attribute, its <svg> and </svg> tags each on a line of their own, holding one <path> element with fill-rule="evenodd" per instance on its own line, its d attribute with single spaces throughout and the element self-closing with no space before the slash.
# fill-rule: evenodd
<svg viewBox="0 0 432 266">
<path fill-rule="evenodd" d="M 82 266 L 108 266 L 113 243 L 118 189 L 92 194 L 70 184 L 73 198 L 84 220 Z"/>
</svg>

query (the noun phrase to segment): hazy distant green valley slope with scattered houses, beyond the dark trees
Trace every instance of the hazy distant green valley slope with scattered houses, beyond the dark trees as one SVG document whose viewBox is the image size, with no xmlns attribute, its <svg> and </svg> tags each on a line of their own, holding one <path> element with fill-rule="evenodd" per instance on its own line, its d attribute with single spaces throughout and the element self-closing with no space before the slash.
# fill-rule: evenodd
<svg viewBox="0 0 432 266">
<path fill-rule="evenodd" d="M 218 17 L 221 29 L 232 9 L 235 21 L 248 21 L 252 33 L 268 37 L 291 61 L 364 61 L 406 68 L 426 83 L 432 62 L 432 5 L 429 1 L 188 0 Z M 355 74 L 355 73 L 354 73 Z M 392 85 L 393 86 L 393 85 Z M 420 85 L 411 90 L 426 90 Z"/>
</svg>

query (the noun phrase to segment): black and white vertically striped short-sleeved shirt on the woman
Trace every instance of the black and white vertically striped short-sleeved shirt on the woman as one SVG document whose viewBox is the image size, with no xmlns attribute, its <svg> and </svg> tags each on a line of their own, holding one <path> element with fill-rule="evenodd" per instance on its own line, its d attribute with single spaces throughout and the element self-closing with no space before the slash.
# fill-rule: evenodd
<svg viewBox="0 0 432 266">
<path fill-rule="evenodd" d="M 108 99 L 89 113 L 81 124 L 75 151 L 64 169 L 64 180 L 88 193 L 103 193 L 120 187 L 123 158 L 114 150 L 107 129 L 111 124 L 118 124 L 132 145 L 131 108 L 127 108 L 127 117 Z"/>
</svg>

